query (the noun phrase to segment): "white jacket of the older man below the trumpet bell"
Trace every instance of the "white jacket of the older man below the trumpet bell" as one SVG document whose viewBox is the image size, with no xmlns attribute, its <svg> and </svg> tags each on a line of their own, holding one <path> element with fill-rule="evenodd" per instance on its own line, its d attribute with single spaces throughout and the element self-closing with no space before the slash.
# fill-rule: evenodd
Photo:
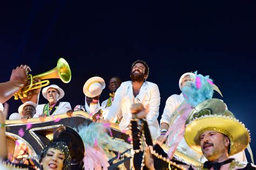
<svg viewBox="0 0 256 170">
<path fill-rule="evenodd" d="M 36 114 L 33 116 L 33 118 L 39 117 L 40 115 L 43 114 L 43 112 L 44 112 L 44 105 L 45 104 L 38 104 L 37 105 L 37 107 L 36 107 Z M 59 102 L 59 105 L 58 105 L 57 109 L 55 110 L 55 112 L 53 112 L 52 115 L 65 114 L 70 109 L 71 109 L 71 105 L 70 105 L 69 102 Z"/>
</svg>

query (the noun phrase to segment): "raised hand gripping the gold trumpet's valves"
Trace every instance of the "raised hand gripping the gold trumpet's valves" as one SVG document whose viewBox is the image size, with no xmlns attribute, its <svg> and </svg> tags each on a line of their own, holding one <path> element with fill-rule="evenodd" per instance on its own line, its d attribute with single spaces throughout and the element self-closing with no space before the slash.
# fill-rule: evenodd
<svg viewBox="0 0 256 170">
<path fill-rule="evenodd" d="M 17 67 L 16 69 L 12 70 L 10 81 L 19 80 L 19 81 L 24 82 L 24 84 L 26 84 L 26 82 L 28 82 L 27 72 L 30 72 L 30 71 L 31 71 L 31 69 L 29 66 L 21 65 L 21 66 Z"/>
</svg>

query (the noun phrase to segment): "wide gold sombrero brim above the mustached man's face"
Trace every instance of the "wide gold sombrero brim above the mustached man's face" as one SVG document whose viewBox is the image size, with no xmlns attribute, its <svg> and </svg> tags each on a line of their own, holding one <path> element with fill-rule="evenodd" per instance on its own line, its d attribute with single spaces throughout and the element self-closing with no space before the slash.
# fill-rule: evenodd
<svg viewBox="0 0 256 170">
<path fill-rule="evenodd" d="M 245 150 L 251 140 L 245 125 L 237 119 L 223 115 L 206 115 L 187 124 L 184 135 L 187 145 L 194 151 L 203 154 L 199 137 L 200 134 L 209 130 L 223 133 L 230 138 L 230 156 Z"/>
</svg>

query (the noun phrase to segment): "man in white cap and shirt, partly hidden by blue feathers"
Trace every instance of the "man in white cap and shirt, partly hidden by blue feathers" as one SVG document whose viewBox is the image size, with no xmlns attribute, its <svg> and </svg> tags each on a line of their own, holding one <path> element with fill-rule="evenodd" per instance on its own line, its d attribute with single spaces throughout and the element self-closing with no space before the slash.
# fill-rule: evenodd
<svg viewBox="0 0 256 170">
<path fill-rule="evenodd" d="M 188 72 L 181 75 L 179 79 L 179 89 L 181 90 L 181 88 L 186 86 L 186 82 L 193 81 L 193 79 L 194 79 L 194 73 Z M 169 124 L 172 121 L 173 113 L 183 101 L 184 101 L 184 96 L 182 93 L 180 95 L 173 94 L 169 98 L 167 98 L 164 112 L 160 119 L 161 134 L 160 134 L 160 137 L 158 137 L 158 140 L 167 139 L 167 138 L 164 139 L 164 136 L 167 130 L 169 129 Z"/>
</svg>

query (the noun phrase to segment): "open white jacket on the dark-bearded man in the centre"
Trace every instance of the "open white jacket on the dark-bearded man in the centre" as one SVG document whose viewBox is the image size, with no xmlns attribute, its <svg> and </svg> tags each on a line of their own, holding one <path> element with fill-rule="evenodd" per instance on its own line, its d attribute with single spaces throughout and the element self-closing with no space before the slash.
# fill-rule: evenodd
<svg viewBox="0 0 256 170">
<path fill-rule="evenodd" d="M 103 111 L 106 112 L 105 119 L 110 121 L 117 115 L 122 115 L 123 119 L 120 122 L 119 127 L 121 130 L 127 130 L 132 118 L 130 108 L 133 103 L 142 103 L 144 107 L 149 104 L 149 113 L 146 117 L 147 123 L 149 124 L 151 136 L 157 138 L 160 135 L 159 123 L 157 121 L 159 115 L 160 93 L 157 84 L 147 81 L 144 82 L 140 88 L 139 94 L 134 97 L 132 82 L 123 82 L 114 95 L 111 107 L 103 109 Z"/>
</svg>

